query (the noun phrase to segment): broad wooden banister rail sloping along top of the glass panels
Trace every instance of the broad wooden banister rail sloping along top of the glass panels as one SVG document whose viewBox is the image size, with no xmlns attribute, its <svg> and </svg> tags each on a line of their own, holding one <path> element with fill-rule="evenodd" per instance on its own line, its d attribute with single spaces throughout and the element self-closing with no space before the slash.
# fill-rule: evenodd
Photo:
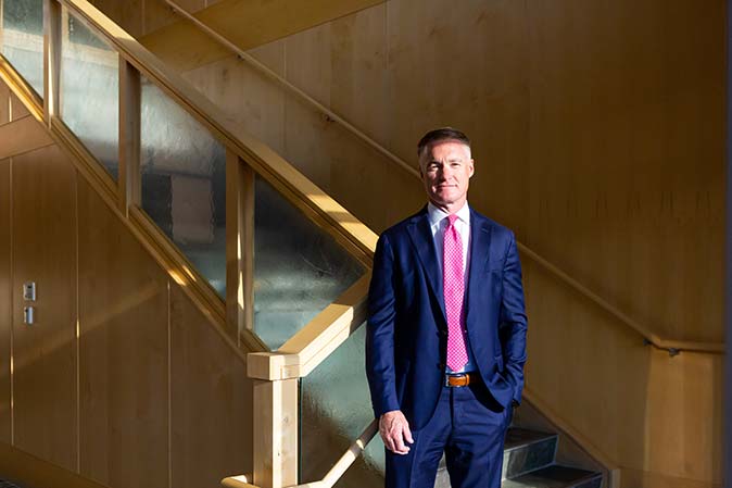
<svg viewBox="0 0 732 488">
<path fill-rule="evenodd" d="M 373 230 L 269 147 L 247 133 L 240 124 L 223 114 L 220 109 L 89 2 L 59 1 L 99 30 L 123 59 L 155 83 L 318 226 L 333 235 L 362 264 L 370 267 L 377 240 Z"/>
</svg>

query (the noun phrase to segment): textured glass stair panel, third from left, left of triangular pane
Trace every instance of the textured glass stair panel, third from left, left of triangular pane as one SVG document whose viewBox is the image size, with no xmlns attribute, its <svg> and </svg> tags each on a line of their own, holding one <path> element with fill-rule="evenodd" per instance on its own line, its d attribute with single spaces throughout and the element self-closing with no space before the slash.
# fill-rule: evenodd
<svg viewBox="0 0 732 488">
<path fill-rule="evenodd" d="M 141 84 L 142 208 L 226 297 L 226 152 L 160 88 Z"/>
</svg>

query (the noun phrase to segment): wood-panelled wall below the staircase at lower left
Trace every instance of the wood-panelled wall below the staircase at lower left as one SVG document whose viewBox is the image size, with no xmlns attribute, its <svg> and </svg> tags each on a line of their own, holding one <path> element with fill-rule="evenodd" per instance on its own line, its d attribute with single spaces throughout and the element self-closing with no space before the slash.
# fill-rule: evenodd
<svg viewBox="0 0 732 488">
<path fill-rule="evenodd" d="M 0 161 L 0 442 L 111 488 L 251 472 L 245 365 L 55 146 Z"/>
</svg>

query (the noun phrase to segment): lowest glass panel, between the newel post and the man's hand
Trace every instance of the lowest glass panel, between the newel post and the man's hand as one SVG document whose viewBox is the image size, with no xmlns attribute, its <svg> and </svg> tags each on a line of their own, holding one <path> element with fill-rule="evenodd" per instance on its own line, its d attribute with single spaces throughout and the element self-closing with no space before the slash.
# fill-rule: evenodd
<svg viewBox="0 0 732 488">
<path fill-rule="evenodd" d="M 301 479 L 321 479 L 374 420 L 364 366 L 366 326 L 362 325 L 301 380 Z M 377 434 L 337 487 L 381 488 L 383 443 Z"/>
</svg>

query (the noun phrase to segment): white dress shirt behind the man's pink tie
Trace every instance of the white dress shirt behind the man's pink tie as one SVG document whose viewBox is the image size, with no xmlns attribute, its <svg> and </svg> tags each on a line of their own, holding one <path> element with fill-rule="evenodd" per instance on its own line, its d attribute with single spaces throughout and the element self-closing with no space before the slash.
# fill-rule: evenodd
<svg viewBox="0 0 732 488">
<path fill-rule="evenodd" d="M 463 242 L 463 277 L 465 279 L 465 291 L 467 296 L 468 290 L 468 270 L 470 270 L 470 208 L 468 202 L 465 202 L 463 208 L 455 212 L 457 220 L 455 221 L 455 229 L 460 235 L 460 241 Z M 447 212 L 438 209 L 429 202 L 427 204 L 427 215 L 430 223 L 430 229 L 432 230 L 432 241 L 434 242 L 434 250 L 438 254 L 438 263 L 440 264 L 440 277 L 442 277 L 443 268 L 443 256 L 444 256 L 444 235 L 445 229 L 447 228 Z M 463 313 L 462 323 L 465 326 L 465 310 Z M 468 342 L 468 336 L 465 335 L 465 347 L 468 350 L 468 362 L 459 371 L 452 371 L 450 367 L 446 367 L 447 373 L 465 373 L 476 371 L 476 362 L 472 358 L 472 352 L 470 351 L 470 345 Z"/>
</svg>

